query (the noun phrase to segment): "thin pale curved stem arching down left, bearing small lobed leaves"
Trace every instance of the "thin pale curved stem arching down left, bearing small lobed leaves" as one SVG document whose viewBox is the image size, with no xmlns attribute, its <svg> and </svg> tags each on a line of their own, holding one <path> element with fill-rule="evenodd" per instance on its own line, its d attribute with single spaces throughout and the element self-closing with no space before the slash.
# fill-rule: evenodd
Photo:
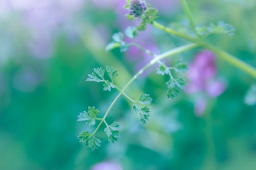
<svg viewBox="0 0 256 170">
<path fill-rule="evenodd" d="M 108 110 L 106 110 L 105 115 L 103 116 L 102 120 L 100 121 L 100 123 L 98 124 L 97 128 L 94 130 L 94 132 L 91 134 L 91 136 L 93 136 L 99 129 L 99 127 L 101 126 L 101 124 L 105 121 L 106 116 L 108 116 L 110 110 L 112 109 L 112 107 L 114 106 L 114 104 L 117 102 L 117 100 L 120 98 L 120 96 L 123 94 L 123 92 L 131 85 L 131 83 L 136 80 L 147 68 L 149 68 L 150 66 L 154 65 L 155 63 L 157 63 L 159 60 L 164 59 L 166 57 L 170 57 L 173 56 L 175 54 L 178 53 L 182 53 L 184 51 L 190 50 L 191 48 L 196 47 L 197 45 L 194 43 L 188 44 L 188 45 L 184 45 L 181 47 L 177 47 L 173 50 L 170 50 L 168 52 L 165 52 L 163 54 L 157 55 L 154 59 L 152 59 L 147 65 L 145 65 L 143 68 L 141 68 L 133 77 L 132 79 L 130 79 L 130 81 L 128 83 L 126 83 L 126 85 L 121 89 L 121 91 L 117 94 L 116 98 L 114 99 L 114 101 L 111 103 L 110 107 L 108 108 Z"/>
</svg>

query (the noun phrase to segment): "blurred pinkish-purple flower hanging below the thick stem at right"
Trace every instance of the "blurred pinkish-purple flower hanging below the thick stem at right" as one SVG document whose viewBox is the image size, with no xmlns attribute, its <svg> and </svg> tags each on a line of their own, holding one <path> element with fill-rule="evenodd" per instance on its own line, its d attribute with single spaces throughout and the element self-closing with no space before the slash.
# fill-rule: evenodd
<svg viewBox="0 0 256 170">
<path fill-rule="evenodd" d="M 195 112 L 203 114 L 207 105 L 207 99 L 216 98 L 225 90 L 224 82 L 216 78 L 216 57 L 210 51 L 204 50 L 196 55 L 187 72 L 189 83 L 186 92 L 190 94 L 203 93 L 196 100 Z"/>
</svg>

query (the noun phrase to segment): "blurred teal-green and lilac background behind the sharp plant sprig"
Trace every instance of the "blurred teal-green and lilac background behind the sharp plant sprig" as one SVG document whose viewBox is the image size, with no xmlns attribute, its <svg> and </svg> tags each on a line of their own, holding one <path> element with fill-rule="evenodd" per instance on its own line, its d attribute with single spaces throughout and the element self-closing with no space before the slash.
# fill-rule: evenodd
<svg viewBox="0 0 256 170">
<path fill-rule="evenodd" d="M 187 25 L 180 1 L 148 2 L 164 25 Z M 117 94 L 86 82 L 87 75 L 111 65 L 123 86 L 151 59 L 136 48 L 126 54 L 104 51 L 113 33 L 137 24 L 125 18 L 124 4 L 0 1 L 0 169 L 255 169 L 256 107 L 244 102 L 255 79 L 201 48 L 174 57 L 190 68 L 187 89 L 175 100 L 166 98 L 164 78 L 155 68 L 127 91 L 134 98 L 142 91 L 152 96 L 147 125 L 140 125 L 122 98 L 107 118 L 120 122 L 119 140 L 108 143 L 101 128 L 99 150 L 79 143 L 76 136 L 87 129 L 76 121 L 79 112 L 95 106 L 103 114 Z M 254 0 L 188 4 L 201 26 L 231 23 L 237 29 L 233 37 L 212 35 L 207 41 L 256 66 Z M 156 54 L 187 43 L 151 26 L 137 42 Z"/>
</svg>

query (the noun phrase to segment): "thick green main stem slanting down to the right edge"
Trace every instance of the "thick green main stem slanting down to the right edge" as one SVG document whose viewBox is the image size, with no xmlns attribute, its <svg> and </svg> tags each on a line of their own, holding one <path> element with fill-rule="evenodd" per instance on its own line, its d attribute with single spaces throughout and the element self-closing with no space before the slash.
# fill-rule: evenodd
<svg viewBox="0 0 256 170">
<path fill-rule="evenodd" d="M 236 57 L 220 50 L 219 48 L 216 48 L 216 47 L 212 46 L 211 44 L 209 44 L 209 43 L 207 43 L 203 40 L 200 40 L 198 38 L 193 38 L 193 37 L 190 37 L 186 34 L 179 33 L 175 30 L 166 28 L 166 27 L 160 25 L 159 23 L 157 23 L 155 21 L 153 22 L 153 26 L 155 26 L 156 28 L 158 28 L 158 29 L 160 29 L 160 30 L 162 30 L 162 31 L 164 31 L 168 34 L 176 35 L 176 36 L 181 37 L 183 39 L 186 39 L 188 41 L 194 42 L 194 43 L 198 44 L 199 46 L 207 48 L 208 50 L 214 52 L 217 56 L 221 57 L 226 62 L 228 62 L 231 65 L 236 66 L 237 68 L 243 70 L 245 73 L 252 76 L 253 78 L 256 78 L 256 69 L 254 67 L 252 67 L 252 66 L 246 64 L 245 62 L 237 59 Z"/>
</svg>

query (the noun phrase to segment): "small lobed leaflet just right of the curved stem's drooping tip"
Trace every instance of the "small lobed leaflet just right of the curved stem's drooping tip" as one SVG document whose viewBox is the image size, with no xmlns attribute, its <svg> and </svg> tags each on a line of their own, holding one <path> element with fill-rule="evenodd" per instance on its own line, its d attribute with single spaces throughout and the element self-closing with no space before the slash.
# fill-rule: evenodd
<svg viewBox="0 0 256 170">
<path fill-rule="evenodd" d="M 108 136 L 108 140 L 110 143 L 114 143 L 117 141 L 117 138 L 119 137 L 119 130 L 121 129 L 121 126 L 118 122 L 114 122 L 110 126 L 106 127 L 104 129 L 104 132 Z"/>
</svg>

